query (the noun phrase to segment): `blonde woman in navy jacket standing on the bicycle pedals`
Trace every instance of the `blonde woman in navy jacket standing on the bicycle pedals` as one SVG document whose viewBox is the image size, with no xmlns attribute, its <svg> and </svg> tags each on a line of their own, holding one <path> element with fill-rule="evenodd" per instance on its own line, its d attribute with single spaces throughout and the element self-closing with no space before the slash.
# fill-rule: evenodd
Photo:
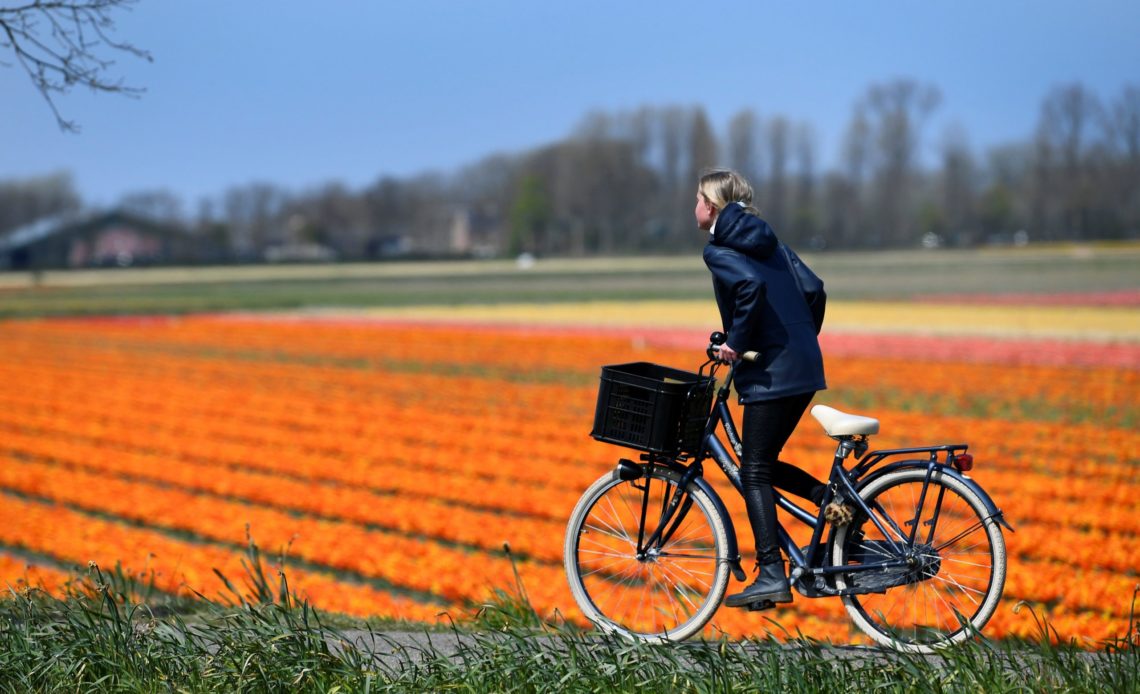
<svg viewBox="0 0 1140 694">
<path fill-rule="evenodd" d="M 776 545 L 772 487 L 816 505 L 825 485 L 779 459 L 816 391 L 824 390 L 820 325 L 799 289 L 772 227 L 752 207 L 752 187 L 739 173 L 703 173 L 697 189 L 697 224 L 709 232 L 705 263 L 727 341 L 720 359 L 736 361 L 756 351 L 755 362 L 736 366 L 735 385 L 744 406 L 740 479 L 756 539 L 758 575 L 730 595 L 730 607 L 791 602 Z"/>
</svg>

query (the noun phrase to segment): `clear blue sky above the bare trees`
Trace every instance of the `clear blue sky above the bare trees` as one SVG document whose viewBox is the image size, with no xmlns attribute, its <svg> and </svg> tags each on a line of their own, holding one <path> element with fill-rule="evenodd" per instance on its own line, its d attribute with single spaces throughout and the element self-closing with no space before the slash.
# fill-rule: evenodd
<svg viewBox="0 0 1140 694">
<path fill-rule="evenodd" d="M 253 181 L 448 172 L 643 105 L 700 105 L 718 130 L 742 108 L 807 122 L 826 163 L 895 77 L 942 90 L 930 152 L 952 123 L 983 152 L 1028 137 L 1054 85 L 1140 84 L 1138 31 L 1134 0 L 141 0 L 116 35 L 154 62 L 114 71 L 147 91 L 59 98 L 79 134 L 0 66 L 0 180 L 71 171 L 93 204 L 169 190 L 193 211 Z"/>
</svg>

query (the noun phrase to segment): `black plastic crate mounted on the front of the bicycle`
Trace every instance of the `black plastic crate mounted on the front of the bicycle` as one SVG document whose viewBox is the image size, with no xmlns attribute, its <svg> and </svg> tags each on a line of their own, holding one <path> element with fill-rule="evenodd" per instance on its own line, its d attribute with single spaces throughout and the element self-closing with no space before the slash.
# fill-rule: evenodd
<svg viewBox="0 0 1140 694">
<path fill-rule="evenodd" d="M 648 361 L 603 366 L 591 435 L 648 452 L 694 454 L 715 386 L 711 376 Z"/>
</svg>

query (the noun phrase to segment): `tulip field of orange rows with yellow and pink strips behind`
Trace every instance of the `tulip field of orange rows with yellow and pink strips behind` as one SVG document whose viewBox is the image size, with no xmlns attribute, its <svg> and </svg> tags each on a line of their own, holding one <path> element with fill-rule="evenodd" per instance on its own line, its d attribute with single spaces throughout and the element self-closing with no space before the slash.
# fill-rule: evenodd
<svg viewBox="0 0 1140 694">
<path fill-rule="evenodd" d="M 589 436 L 600 367 L 695 370 L 715 320 L 703 301 L 0 320 L 0 585 L 59 590 L 93 562 L 212 596 L 250 537 L 331 612 L 445 622 L 516 570 L 542 615 L 578 622 L 565 522 L 634 455 Z M 1127 631 L 1140 292 L 840 299 L 822 344 L 815 402 L 878 417 L 872 449 L 969 443 L 1016 530 L 988 636 Z M 782 458 L 823 476 L 832 450 L 805 416 Z M 743 504 L 707 470 L 748 560 Z M 712 628 L 865 643 L 837 598 Z"/>
</svg>

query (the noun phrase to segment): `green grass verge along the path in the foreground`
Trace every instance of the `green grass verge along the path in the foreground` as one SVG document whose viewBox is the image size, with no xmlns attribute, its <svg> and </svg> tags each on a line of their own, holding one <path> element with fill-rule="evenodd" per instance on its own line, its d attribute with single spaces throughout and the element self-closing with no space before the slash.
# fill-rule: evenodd
<svg viewBox="0 0 1140 694">
<path fill-rule="evenodd" d="M 937 656 L 804 638 L 651 646 L 544 623 L 520 585 L 407 647 L 392 634 L 415 626 L 318 613 L 252 544 L 250 557 L 245 588 L 214 599 L 156 599 L 95 566 L 65 597 L 9 589 L 0 692 L 1140 692 L 1135 614 L 1094 652 L 1051 644 L 1044 623 L 1036 643 Z"/>
</svg>

